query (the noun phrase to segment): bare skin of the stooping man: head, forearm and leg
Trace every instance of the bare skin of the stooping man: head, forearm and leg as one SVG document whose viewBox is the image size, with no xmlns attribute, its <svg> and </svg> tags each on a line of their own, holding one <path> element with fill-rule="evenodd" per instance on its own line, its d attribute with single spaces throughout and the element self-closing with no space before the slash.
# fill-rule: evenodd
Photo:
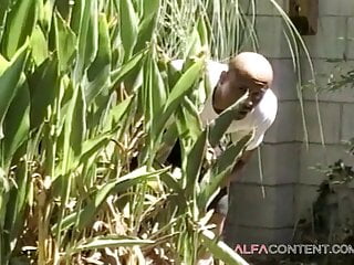
<svg viewBox="0 0 354 265">
<path fill-rule="evenodd" d="M 222 72 L 219 83 L 212 95 L 212 107 L 217 114 L 222 113 L 248 93 L 247 99 L 241 105 L 241 112 L 236 114 L 235 120 L 243 119 L 254 107 L 260 103 L 267 89 L 272 82 L 272 70 L 268 61 L 263 57 L 253 54 L 244 54 L 238 56 L 233 64 L 229 64 L 229 71 Z M 229 188 L 235 181 L 240 170 L 250 160 L 253 150 L 247 150 L 238 159 L 233 167 L 232 173 L 221 186 Z M 214 233 L 221 235 L 223 230 L 226 215 L 214 213 L 210 220 L 216 224 Z M 210 253 L 201 253 L 200 258 L 210 257 Z"/>
</svg>

